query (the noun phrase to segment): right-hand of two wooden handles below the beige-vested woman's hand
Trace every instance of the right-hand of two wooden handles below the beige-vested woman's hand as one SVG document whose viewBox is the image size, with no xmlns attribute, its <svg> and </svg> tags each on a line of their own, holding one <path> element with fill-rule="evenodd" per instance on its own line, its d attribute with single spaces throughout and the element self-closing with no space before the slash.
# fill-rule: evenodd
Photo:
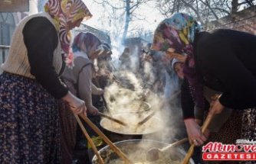
<svg viewBox="0 0 256 164">
<path fill-rule="evenodd" d="M 84 121 L 110 146 L 110 149 L 112 149 L 115 153 L 117 153 L 117 156 L 120 156 L 121 159 L 127 164 L 133 164 L 133 162 L 130 161 L 130 159 L 127 158 L 127 156 L 117 147 L 115 146 L 110 139 L 108 139 L 105 134 L 102 133 L 102 131 L 99 130 L 99 128 L 92 123 L 89 118 L 84 116 L 84 114 L 80 114 L 80 117 L 84 119 Z"/>
</svg>

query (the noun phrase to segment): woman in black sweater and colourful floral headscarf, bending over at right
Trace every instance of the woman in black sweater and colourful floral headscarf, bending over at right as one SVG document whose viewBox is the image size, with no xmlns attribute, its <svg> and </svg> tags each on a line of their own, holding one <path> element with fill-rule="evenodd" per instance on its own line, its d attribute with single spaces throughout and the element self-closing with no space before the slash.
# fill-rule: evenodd
<svg viewBox="0 0 256 164">
<path fill-rule="evenodd" d="M 189 139 L 201 145 L 206 137 L 195 123 L 193 104 L 204 108 L 203 85 L 222 95 L 214 102 L 212 114 L 224 108 L 244 110 L 241 138 L 254 139 L 256 107 L 256 37 L 240 31 L 200 32 L 187 14 L 177 13 L 156 29 L 152 48 L 168 56 L 185 59 L 182 110 Z M 185 57 L 182 57 L 182 55 Z"/>
</svg>

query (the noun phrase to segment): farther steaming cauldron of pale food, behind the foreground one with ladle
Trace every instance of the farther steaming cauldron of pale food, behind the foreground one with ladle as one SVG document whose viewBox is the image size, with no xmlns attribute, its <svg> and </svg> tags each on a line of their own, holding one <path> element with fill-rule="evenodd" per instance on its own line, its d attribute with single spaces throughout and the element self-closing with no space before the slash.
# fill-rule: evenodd
<svg viewBox="0 0 256 164">
<path fill-rule="evenodd" d="M 162 120 L 159 119 L 159 117 L 153 116 L 145 124 L 139 126 L 137 129 L 133 129 L 133 127 L 136 126 L 136 123 L 143 120 L 147 115 L 148 114 L 134 113 L 114 114 L 113 117 L 120 119 L 120 121 L 124 121 L 128 124 L 128 127 L 117 124 L 107 118 L 102 118 L 100 126 L 103 127 L 103 133 L 112 142 L 142 139 L 144 135 L 146 135 L 147 139 L 151 139 L 156 132 L 162 130 Z"/>
</svg>

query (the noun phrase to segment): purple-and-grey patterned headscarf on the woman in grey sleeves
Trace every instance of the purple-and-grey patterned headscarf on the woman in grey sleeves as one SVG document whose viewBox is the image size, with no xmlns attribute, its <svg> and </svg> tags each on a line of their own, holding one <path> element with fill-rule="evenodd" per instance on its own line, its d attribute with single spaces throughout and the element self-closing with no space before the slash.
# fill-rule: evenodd
<svg viewBox="0 0 256 164">
<path fill-rule="evenodd" d="M 74 42 L 72 44 L 73 51 L 84 51 L 90 58 L 90 53 L 103 52 L 103 47 L 98 37 L 91 33 L 80 32 L 74 37 Z"/>
</svg>

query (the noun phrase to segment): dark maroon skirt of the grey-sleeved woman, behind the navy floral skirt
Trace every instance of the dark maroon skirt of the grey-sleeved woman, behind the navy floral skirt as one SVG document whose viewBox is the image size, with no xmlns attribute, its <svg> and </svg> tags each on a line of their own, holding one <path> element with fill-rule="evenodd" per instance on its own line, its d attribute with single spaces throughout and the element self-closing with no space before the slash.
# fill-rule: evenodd
<svg viewBox="0 0 256 164">
<path fill-rule="evenodd" d="M 77 95 L 74 85 L 64 80 L 67 88 Z M 60 122 L 61 122 L 61 164 L 72 163 L 74 155 L 74 146 L 76 144 L 77 136 L 77 121 L 74 117 L 74 113 L 71 111 L 67 102 L 60 101 Z"/>
</svg>

